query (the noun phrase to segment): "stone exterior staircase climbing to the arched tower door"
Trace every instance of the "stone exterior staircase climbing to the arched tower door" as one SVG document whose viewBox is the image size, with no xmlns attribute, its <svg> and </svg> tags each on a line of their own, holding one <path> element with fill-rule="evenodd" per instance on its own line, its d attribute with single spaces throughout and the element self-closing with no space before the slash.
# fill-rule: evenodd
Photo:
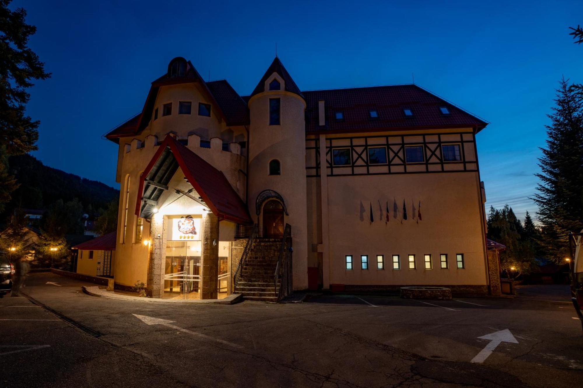
<svg viewBox="0 0 583 388">
<path fill-rule="evenodd" d="M 235 292 L 249 301 L 277 302 L 280 280 L 274 284 L 282 240 L 255 238 L 247 261 L 241 266 Z"/>
</svg>

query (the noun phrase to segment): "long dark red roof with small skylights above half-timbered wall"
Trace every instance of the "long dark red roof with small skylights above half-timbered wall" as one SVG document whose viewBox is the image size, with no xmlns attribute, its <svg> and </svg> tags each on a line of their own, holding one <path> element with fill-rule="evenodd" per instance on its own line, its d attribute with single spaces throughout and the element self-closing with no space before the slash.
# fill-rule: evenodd
<svg viewBox="0 0 583 388">
<path fill-rule="evenodd" d="M 306 133 L 467 127 L 479 131 L 487 125 L 415 84 L 310 90 L 304 91 L 304 96 Z M 322 126 L 319 100 L 324 100 L 326 111 L 326 123 Z M 450 114 L 442 114 L 440 107 L 447 107 Z M 403 108 L 412 110 L 412 117 L 406 117 Z M 378 118 L 370 117 L 371 110 L 377 111 Z M 336 121 L 335 112 L 343 112 L 344 119 Z"/>
</svg>

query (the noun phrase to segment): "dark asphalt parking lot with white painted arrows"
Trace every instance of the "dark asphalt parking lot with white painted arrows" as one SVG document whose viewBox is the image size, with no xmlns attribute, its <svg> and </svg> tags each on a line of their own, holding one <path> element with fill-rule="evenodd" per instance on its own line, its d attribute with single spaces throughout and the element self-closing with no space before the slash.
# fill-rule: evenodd
<svg viewBox="0 0 583 388">
<path fill-rule="evenodd" d="M 37 305 L 0 299 L 0 382 L 583 385 L 581 323 L 573 319 L 566 286 L 524 287 L 517 298 L 500 299 L 328 294 L 300 304 L 172 305 L 91 297 L 81 291 L 84 284 L 37 273 L 24 288 Z"/>
</svg>

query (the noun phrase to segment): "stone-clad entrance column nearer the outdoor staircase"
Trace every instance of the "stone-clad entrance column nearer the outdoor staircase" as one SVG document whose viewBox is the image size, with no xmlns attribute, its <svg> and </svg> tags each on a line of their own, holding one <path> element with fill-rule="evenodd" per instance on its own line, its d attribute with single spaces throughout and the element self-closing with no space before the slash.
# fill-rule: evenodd
<svg viewBox="0 0 583 388">
<path fill-rule="evenodd" d="M 216 245 L 213 245 L 213 241 Z M 210 211 L 202 217 L 201 299 L 217 298 L 219 276 L 219 218 Z"/>
</svg>

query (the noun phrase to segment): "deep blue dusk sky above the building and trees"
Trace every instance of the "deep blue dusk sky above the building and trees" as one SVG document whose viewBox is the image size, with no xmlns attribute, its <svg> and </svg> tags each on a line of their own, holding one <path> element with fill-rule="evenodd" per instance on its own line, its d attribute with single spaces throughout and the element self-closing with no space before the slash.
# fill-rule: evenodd
<svg viewBox="0 0 583 388">
<path fill-rule="evenodd" d="M 491 124 L 477 135 L 487 204 L 535 213 L 538 147 L 561 76 L 583 83 L 583 2 L 14 1 L 52 77 L 31 90 L 34 156 L 115 182 L 101 135 L 141 111 L 170 59 L 250 94 L 278 55 L 303 90 L 412 82 Z M 291 5 L 293 4 L 293 5 Z"/>
</svg>

